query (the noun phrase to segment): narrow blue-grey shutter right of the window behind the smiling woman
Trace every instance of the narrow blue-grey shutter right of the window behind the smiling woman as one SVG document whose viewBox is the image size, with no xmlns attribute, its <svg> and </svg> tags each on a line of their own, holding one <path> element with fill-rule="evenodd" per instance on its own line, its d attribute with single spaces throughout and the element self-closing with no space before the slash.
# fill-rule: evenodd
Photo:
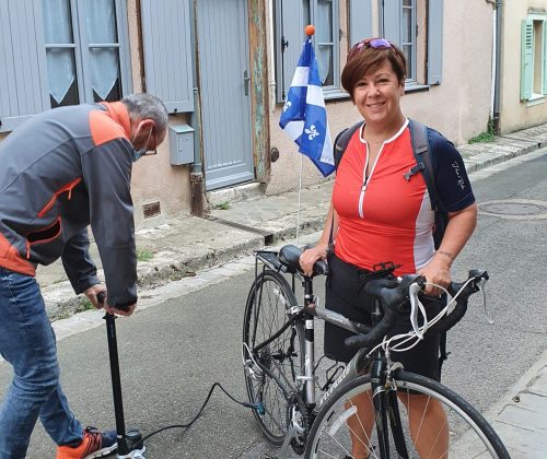
<svg viewBox="0 0 547 459">
<path fill-rule="evenodd" d="M 440 84 L 443 75 L 443 0 L 429 0 L 428 84 Z"/>
</svg>

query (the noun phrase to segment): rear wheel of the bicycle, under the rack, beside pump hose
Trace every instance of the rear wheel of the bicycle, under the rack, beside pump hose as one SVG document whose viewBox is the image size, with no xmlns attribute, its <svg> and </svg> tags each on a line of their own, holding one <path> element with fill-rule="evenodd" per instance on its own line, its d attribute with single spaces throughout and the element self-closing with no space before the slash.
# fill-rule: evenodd
<svg viewBox="0 0 547 459">
<path fill-rule="evenodd" d="M 304 326 L 291 322 L 287 329 L 263 349 L 254 351 L 275 336 L 290 319 L 287 309 L 296 305 L 296 298 L 287 280 L 276 271 L 266 270 L 251 287 L 243 323 L 245 382 L 252 403 L 261 403 L 264 414 L 253 410 L 265 437 L 274 445 L 283 443 L 289 425 L 287 392 L 296 386 L 296 376 L 304 370 Z M 253 363 L 258 362 L 271 375 Z M 251 370 L 249 370 L 251 369 Z M 277 379 L 277 382 L 276 382 Z"/>
</svg>

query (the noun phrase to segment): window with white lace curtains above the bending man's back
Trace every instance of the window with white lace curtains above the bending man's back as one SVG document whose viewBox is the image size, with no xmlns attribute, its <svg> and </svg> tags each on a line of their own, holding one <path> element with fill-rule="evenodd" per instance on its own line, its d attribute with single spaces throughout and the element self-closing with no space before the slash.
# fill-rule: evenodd
<svg viewBox="0 0 547 459">
<path fill-rule="evenodd" d="M 121 98 L 129 84 L 124 71 L 128 56 L 120 38 L 125 36 L 124 2 L 42 3 L 51 107 Z"/>
</svg>

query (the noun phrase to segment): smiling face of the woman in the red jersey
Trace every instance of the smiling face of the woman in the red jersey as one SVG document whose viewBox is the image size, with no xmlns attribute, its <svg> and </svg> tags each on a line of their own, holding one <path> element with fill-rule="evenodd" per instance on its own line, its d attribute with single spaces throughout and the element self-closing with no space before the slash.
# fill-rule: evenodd
<svg viewBox="0 0 547 459">
<path fill-rule="evenodd" d="M 359 80 L 353 90 L 353 102 L 370 125 L 389 125 L 403 116 L 399 98 L 405 94 L 392 63 L 386 60 L 376 70 Z"/>
</svg>

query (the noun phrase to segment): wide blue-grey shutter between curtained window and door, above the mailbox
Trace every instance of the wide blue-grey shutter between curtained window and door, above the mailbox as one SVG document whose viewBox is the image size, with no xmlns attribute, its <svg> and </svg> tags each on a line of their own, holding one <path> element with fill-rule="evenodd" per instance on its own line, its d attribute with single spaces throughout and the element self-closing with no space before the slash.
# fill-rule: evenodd
<svg viewBox="0 0 547 459">
<path fill-rule="evenodd" d="M 141 0 L 147 93 L 168 113 L 193 111 L 189 0 Z"/>
</svg>

